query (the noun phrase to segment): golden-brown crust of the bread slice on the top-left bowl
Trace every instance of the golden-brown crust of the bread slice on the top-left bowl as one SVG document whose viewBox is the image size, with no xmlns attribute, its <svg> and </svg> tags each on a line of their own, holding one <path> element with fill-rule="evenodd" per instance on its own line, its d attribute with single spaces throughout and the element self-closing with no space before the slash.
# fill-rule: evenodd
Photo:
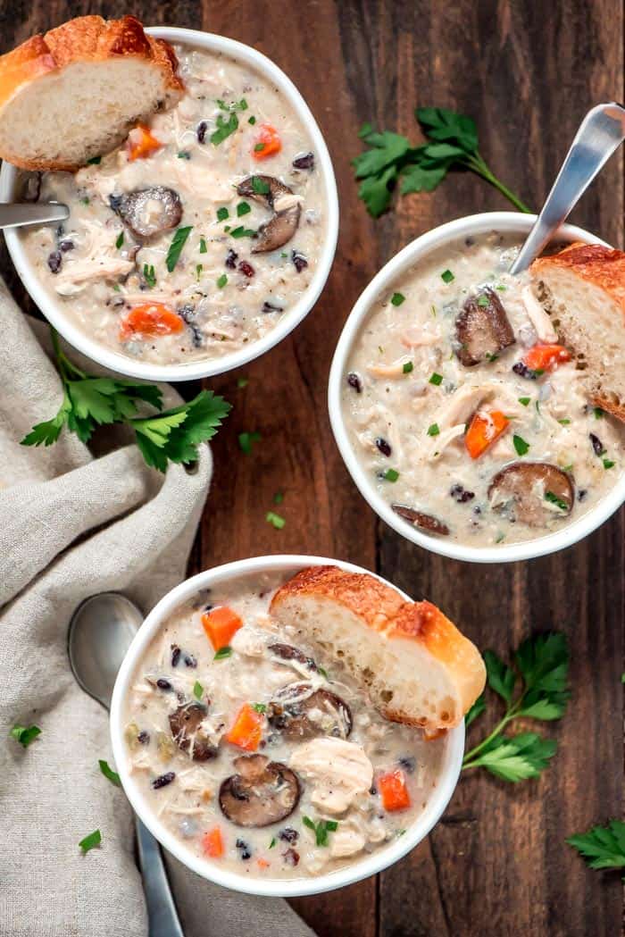
<svg viewBox="0 0 625 937">
<path fill-rule="evenodd" d="M 0 119 L 2 109 L 24 85 L 78 62 L 105 62 L 119 56 L 132 56 L 158 67 L 167 92 L 178 97 L 184 84 L 176 73 L 178 60 L 169 42 L 147 36 L 134 16 L 103 20 L 101 16 L 80 16 L 44 35 L 38 34 L 17 49 L 0 56 Z M 29 160 L 19 154 L 0 152 L 14 166 L 25 170 L 76 171 L 76 165 L 58 161 Z"/>
</svg>

